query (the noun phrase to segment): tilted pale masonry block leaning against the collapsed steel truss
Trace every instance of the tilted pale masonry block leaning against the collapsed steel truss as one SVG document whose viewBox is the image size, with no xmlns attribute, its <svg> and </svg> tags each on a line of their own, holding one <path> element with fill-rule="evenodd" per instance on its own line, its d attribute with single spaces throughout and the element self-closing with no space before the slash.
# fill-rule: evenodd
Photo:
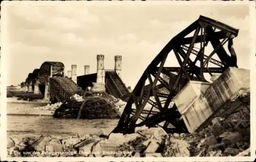
<svg viewBox="0 0 256 162">
<path fill-rule="evenodd" d="M 215 117 L 227 117 L 250 105 L 250 71 L 229 67 L 212 84 L 190 81 L 174 102 L 191 133 L 205 128 Z"/>
</svg>

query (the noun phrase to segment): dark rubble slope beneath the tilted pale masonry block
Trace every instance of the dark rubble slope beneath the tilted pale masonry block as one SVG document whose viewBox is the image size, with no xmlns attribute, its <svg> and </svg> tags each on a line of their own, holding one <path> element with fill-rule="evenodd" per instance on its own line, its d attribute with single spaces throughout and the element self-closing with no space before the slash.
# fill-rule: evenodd
<svg viewBox="0 0 256 162">
<path fill-rule="evenodd" d="M 249 156 L 250 122 L 245 111 L 233 113 L 227 119 L 217 118 L 200 132 L 174 133 L 169 134 L 169 138 L 186 141 L 190 156 Z M 167 143 L 172 143 L 169 141 Z M 167 151 L 172 148 L 168 145 Z M 169 151 L 167 156 L 172 156 L 172 152 Z"/>
</svg>

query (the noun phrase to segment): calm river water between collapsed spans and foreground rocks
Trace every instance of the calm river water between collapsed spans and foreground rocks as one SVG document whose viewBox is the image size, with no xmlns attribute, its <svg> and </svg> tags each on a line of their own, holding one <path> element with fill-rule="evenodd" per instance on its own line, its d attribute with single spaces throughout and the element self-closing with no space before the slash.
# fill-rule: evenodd
<svg viewBox="0 0 256 162">
<path fill-rule="evenodd" d="M 16 104 L 7 103 L 8 109 L 15 109 Z M 26 108 L 26 103 L 20 108 Z M 20 106 L 20 104 L 19 104 Z M 19 109 L 20 109 L 19 108 Z M 118 119 L 55 119 L 52 116 L 38 115 L 7 115 L 8 135 L 61 135 L 61 134 L 96 134 L 101 129 L 111 132 Z"/>
</svg>

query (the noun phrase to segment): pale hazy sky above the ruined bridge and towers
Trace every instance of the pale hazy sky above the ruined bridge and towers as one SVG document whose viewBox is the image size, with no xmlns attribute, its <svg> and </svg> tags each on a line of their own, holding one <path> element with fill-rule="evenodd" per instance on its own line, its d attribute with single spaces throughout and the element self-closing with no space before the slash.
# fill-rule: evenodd
<svg viewBox="0 0 256 162">
<path fill-rule="evenodd" d="M 96 73 L 100 54 L 105 56 L 105 69 L 114 68 L 115 55 L 122 56 L 122 80 L 133 88 L 166 43 L 200 15 L 239 29 L 233 40 L 238 66 L 250 68 L 246 5 L 51 1 L 5 7 L 7 85 L 25 81 L 44 61 L 62 62 L 66 73 L 76 64 L 78 76 L 87 64 L 90 73 Z"/>
</svg>

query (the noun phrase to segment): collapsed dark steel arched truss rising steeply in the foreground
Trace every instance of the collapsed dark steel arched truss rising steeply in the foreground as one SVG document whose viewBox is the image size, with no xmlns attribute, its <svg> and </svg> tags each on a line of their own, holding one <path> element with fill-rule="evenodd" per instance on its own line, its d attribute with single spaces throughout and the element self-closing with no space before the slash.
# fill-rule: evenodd
<svg viewBox="0 0 256 162">
<path fill-rule="evenodd" d="M 194 36 L 186 37 L 193 32 Z M 123 110 L 118 125 L 112 132 L 133 133 L 135 127 L 143 125 L 158 125 L 167 132 L 187 132 L 176 105 L 170 104 L 173 97 L 189 80 L 206 81 L 204 74 L 223 73 L 227 67 L 237 66 L 236 60 L 226 53 L 223 45 L 228 40 L 232 44 L 232 38 L 236 37 L 238 32 L 238 29 L 222 22 L 200 16 L 176 35 L 147 66 Z M 206 55 L 204 51 L 209 42 L 213 51 Z M 200 43 L 200 48 L 196 47 L 197 43 Z M 164 67 L 171 51 L 179 62 L 179 67 Z M 219 59 L 212 58 L 215 54 Z M 231 52 L 232 57 L 233 54 L 234 52 Z M 167 75 L 169 81 L 163 79 L 161 74 Z M 145 85 L 147 81 L 150 84 Z M 159 89 L 162 87 L 168 92 L 160 92 Z M 146 104 L 152 107 L 149 109 Z M 138 121 L 139 119 L 141 121 Z"/>
</svg>

